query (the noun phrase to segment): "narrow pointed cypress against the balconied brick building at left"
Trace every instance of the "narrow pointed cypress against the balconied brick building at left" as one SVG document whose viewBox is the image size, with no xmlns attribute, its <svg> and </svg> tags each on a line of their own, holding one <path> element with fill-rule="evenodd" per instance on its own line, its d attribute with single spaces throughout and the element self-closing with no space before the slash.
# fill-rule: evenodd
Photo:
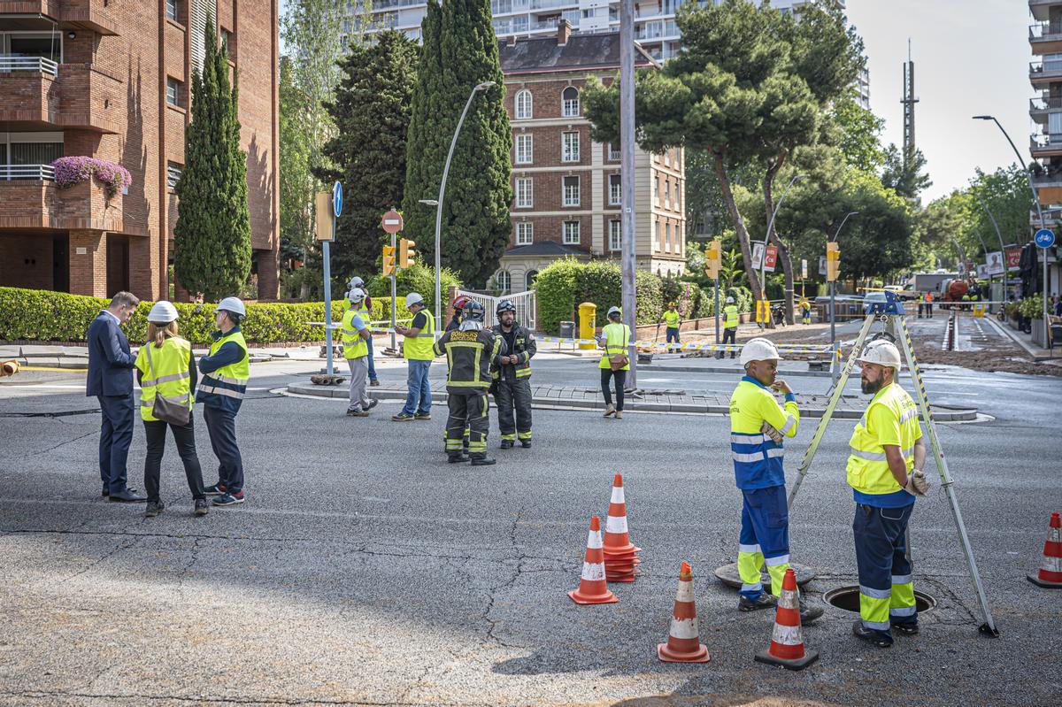
<svg viewBox="0 0 1062 707">
<path fill-rule="evenodd" d="M 207 27 L 213 19 L 207 18 Z M 174 191 L 174 273 L 207 300 L 235 295 L 251 273 L 247 156 L 240 149 L 238 89 L 228 57 L 206 33 L 203 71 L 192 74 L 192 122 L 185 131 L 185 169 Z"/>
</svg>

